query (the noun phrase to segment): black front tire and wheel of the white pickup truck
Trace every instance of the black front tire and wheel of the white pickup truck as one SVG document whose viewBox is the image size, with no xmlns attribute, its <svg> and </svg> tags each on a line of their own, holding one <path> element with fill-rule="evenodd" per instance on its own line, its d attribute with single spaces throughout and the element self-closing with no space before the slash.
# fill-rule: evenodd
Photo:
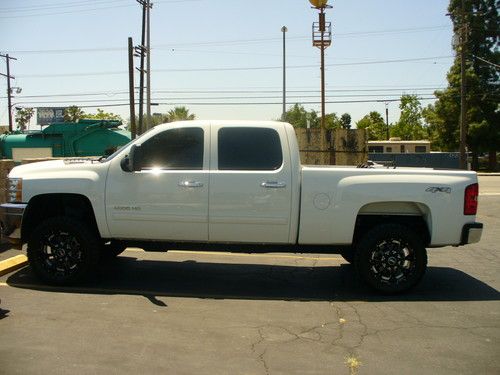
<svg viewBox="0 0 500 375">
<path fill-rule="evenodd" d="M 28 241 L 28 260 L 35 275 L 53 285 L 71 285 L 89 278 L 99 262 L 95 231 L 69 217 L 43 221 Z"/>
</svg>

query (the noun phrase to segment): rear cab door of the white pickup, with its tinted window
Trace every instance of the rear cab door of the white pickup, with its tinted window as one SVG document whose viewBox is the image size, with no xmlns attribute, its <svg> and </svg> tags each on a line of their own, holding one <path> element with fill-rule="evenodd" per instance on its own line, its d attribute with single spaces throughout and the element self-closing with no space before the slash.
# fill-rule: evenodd
<svg viewBox="0 0 500 375">
<path fill-rule="evenodd" d="M 212 125 L 209 240 L 287 243 L 291 170 L 283 128 Z"/>
</svg>

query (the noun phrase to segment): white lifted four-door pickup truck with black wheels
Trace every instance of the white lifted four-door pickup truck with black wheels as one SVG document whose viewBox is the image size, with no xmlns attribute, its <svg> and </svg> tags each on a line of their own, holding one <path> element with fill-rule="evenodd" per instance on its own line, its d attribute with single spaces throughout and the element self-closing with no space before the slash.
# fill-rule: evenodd
<svg viewBox="0 0 500 375">
<path fill-rule="evenodd" d="M 156 126 L 99 160 L 14 168 L 4 235 L 42 280 L 70 284 L 127 246 L 340 253 L 384 293 L 415 286 L 426 248 L 478 242 L 476 173 L 302 166 L 290 124 Z"/>
</svg>

